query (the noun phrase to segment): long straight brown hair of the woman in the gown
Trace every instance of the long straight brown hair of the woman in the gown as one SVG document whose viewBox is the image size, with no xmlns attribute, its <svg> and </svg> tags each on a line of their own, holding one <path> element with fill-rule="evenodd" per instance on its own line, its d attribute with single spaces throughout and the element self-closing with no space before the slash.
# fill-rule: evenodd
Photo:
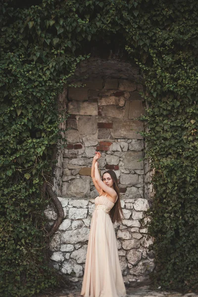
<svg viewBox="0 0 198 297">
<path fill-rule="evenodd" d="M 102 174 L 102 180 L 103 180 L 103 175 L 105 173 L 110 174 L 110 176 L 113 180 L 113 189 L 115 190 L 115 192 L 117 193 L 117 196 L 118 196 L 117 201 L 115 202 L 114 206 L 111 208 L 111 210 L 109 212 L 109 215 L 110 215 L 112 223 L 115 223 L 115 221 L 121 222 L 124 215 L 123 215 L 122 207 L 120 204 L 120 191 L 118 188 L 117 176 L 113 170 L 107 170 Z"/>
</svg>

